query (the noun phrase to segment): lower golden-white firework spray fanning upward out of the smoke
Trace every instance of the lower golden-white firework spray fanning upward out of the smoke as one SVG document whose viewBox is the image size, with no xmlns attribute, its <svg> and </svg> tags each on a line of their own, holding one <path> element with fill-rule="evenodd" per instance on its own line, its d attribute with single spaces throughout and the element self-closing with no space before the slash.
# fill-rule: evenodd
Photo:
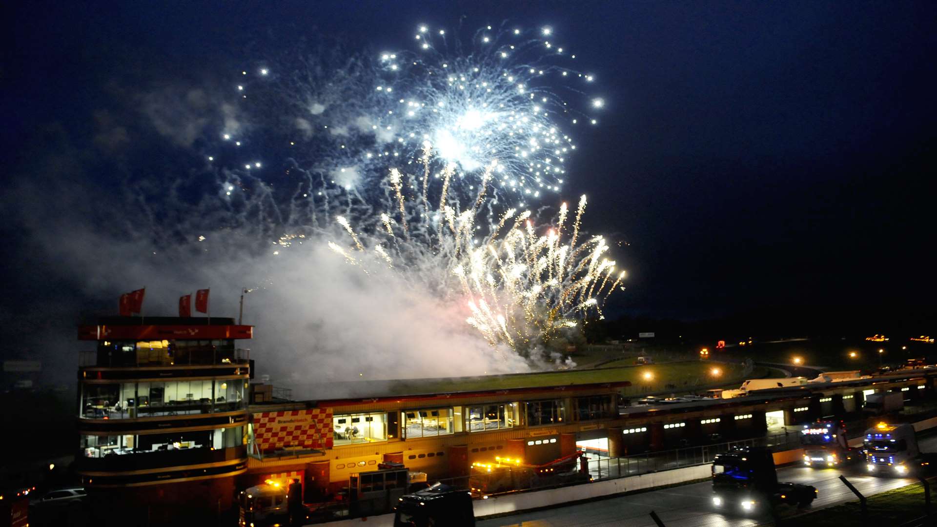
<svg viewBox="0 0 937 527">
<path fill-rule="evenodd" d="M 497 166 L 489 163 L 483 172 L 490 174 Z M 389 203 L 399 206 L 381 215 L 381 227 L 365 235 L 347 219 L 337 218 L 353 248 L 334 242 L 329 247 L 350 264 L 362 265 L 374 279 L 379 279 L 379 271 L 365 262 L 433 282 L 431 288 L 447 301 L 465 303 L 467 324 L 493 347 L 506 344 L 529 354 L 563 330 L 578 327 L 587 316 L 601 318 L 605 299 L 624 279 L 624 271 L 603 257 L 608 245 L 602 236 L 578 240 L 585 196 L 572 225 L 567 225 L 566 203 L 560 206 L 556 223 L 545 231 L 534 225 L 529 211 L 509 209 L 480 239 L 477 232 L 483 226 L 476 221 L 484 188 L 464 209 L 443 193 L 439 207 L 428 210 L 422 196 L 408 198 L 402 191 L 402 182 L 412 181 L 415 188 L 420 176 L 393 169 L 388 179 L 394 188 Z M 378 258 L 368 258 L 369 251 Z M 362 256 L 356 258 L 355 252 Z"/>
</svg>

